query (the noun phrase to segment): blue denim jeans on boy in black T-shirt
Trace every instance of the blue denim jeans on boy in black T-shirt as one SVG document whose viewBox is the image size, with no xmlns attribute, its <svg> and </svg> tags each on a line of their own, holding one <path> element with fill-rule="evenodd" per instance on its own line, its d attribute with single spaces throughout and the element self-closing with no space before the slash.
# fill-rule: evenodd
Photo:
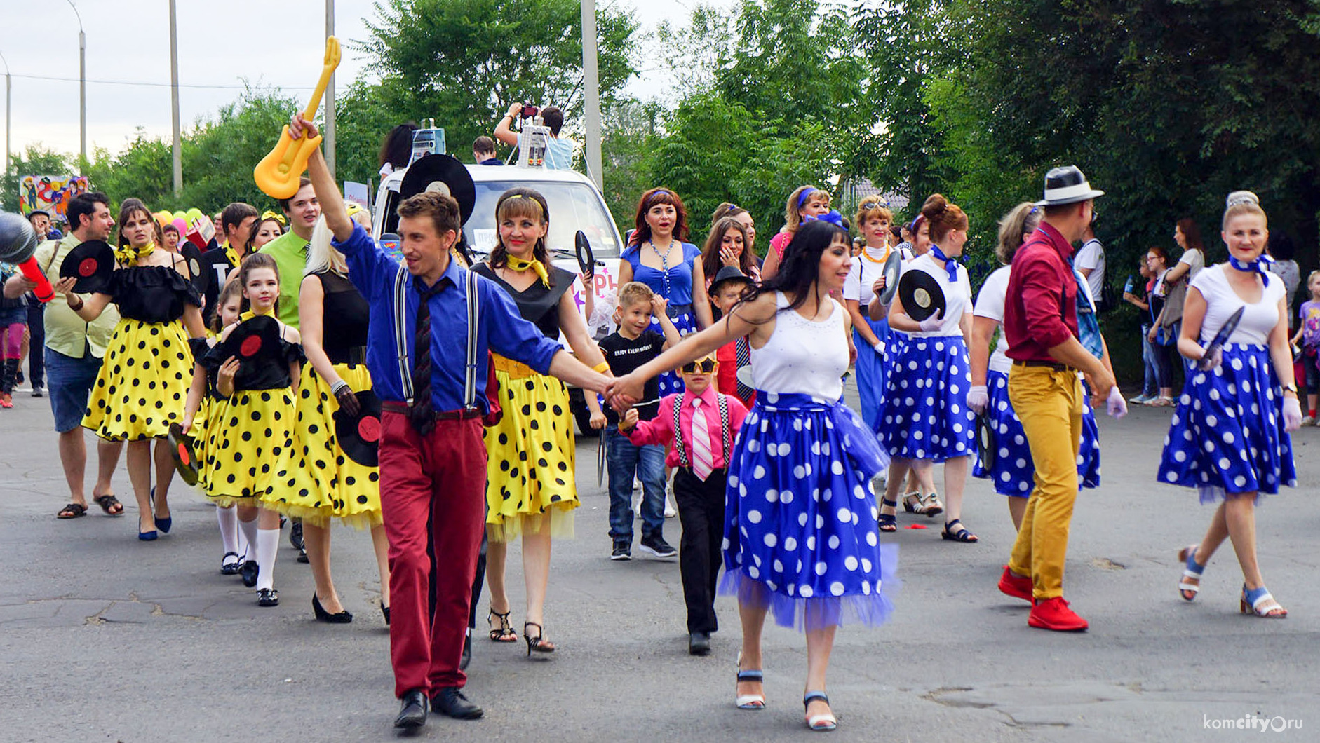
<svg viewBox="0 0 1320 743">
<path fill-rule="evenodd" d="M 610 471 L 610 538 L 632 544 L 632 478 L 642 480 L 642 536 L 664 536 L 664 446 L 635 446 L 616 426 L 606 426 Z"/>
</svg>

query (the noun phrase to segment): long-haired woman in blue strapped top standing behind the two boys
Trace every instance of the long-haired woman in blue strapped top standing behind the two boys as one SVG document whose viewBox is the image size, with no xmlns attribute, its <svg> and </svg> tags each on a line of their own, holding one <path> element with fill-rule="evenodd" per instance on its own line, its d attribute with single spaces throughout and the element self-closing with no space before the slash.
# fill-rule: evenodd
<svg viewBox="0 0 1320 743">
<path fill-rule="evenodd" d="M 701 248 L 688 239 L 688 210 L 678 194 L 651 189 L 638 201 L 636 228 L 619 260 L 619 286 L 640 281 L 669 301 L 669 319 L 680 335 L 710 327 L 710 300 Z M 651 330 L 664 335 L 660 321 Z M 682 392 L 677 367 L 660 375 L 660 396 Z"/>
</svg>

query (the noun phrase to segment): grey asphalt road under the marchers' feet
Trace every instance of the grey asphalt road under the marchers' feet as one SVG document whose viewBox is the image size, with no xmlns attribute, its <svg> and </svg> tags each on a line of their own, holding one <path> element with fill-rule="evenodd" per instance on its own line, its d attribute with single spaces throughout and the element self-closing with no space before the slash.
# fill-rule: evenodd
<svg viewBox="0 0 1320 743">
<path fill-rule="evenodd" d="M 936 520 L 900 516 L 904 586 L 882 628 L 838 632 L 829 693 L 842 740 L 1315 740 L 1320 597 L 1320 429 L 1295 437 L 1303 487 L 1259 511 L 1267 585 L 1284 620 L 1237 612 L 1241 573 L 1225 546 L 1195 603 L 1175 591 L 1177 549 L 1210 509 L 1154 482 L 1168 412 L 1100 421 L 1104 487 L 1073 519 L 1065 585 L 1092 628 L 1031 630 L 1024 604 L 995 590 L 1012 525 L 1003 499 L 969 486 L 964 521 L 977 545 L 939 538 Z M 312 577 L 286 541 L 281 606 L 259 608 L 218 571 L 213 508 L 172 496 L 174 531 L 139 542 L 120 466 L 120 519 L 92 507 L 57 521 L 67 500 L 45 400 L 25 392 L 0 410 L 0 740 L 391 740 L 388 633 L 366 533 L 334 531 L 333 567 L 352 624 L 312 618 Z M 90 437 L 88 437 L 90 438 Z M 803 636 L 766 635 L 768 709 L 734 709 L 737 607 L 709 657 L 686 655 L 675 562 L 610 562 L 607 495 L 595 487 L 595 441 L 578 446 L 577 538 L 554 546 L 546 636 L 560 649 L 524 657 L 482 632 L 469 669 L 479 722 L 432 715 L 433 740 L 789 740 L 804 728 Z M 177 483 L 177 480 L 176 480 Z M 939 483 L 939 480 L 937 480 Z M 88 492 L 91 480 L 88 480 Z M 941 486 L 942 491 L 942 486 Z M 677 544 L 678 524 L 667 537 Z M 513 550 L 516 553 L 516 548 Z M 521 586 L 511 556 L 511 586 Z M 523 591 L 513 622 L 521 626 Z M 484 599 L 482 610 L 484 612 Z M 484 630 L 482 623 L 480 630 Z M 1271 732 L 1225 725 L 1291 725 Z M 1229 721 L 1228 723 L 1222 721 Z M 1296 730 L 1298 723 L 1304 726 Z M 1265 735 L 1262 738 L 1262 735 Z"/>
</svg>

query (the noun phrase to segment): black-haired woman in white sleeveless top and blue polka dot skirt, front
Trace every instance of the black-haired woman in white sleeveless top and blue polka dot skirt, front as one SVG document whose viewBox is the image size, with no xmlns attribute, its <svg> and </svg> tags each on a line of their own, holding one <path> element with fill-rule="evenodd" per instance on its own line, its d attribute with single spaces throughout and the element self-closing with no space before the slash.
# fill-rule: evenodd
<svg viewBox="0 0 1320 743">
<path fill-rule="evenodd" d="M 814 730 L 836 725 L 824 693 L 834 630 L 886 619 L 898 558 L 896 548 L 879 544 L 870 486 L 888 457 L 841 401 L 851 329 L 829 293 L 847 277 L 849 248 L 841 227 L 804 226 L 772 280 L 610 389 L 611 403 L 631 404 L 663 370 L 748 337 L 758 393 L 729 468 L 721 581 L 722 593 L 738 595 L 743 626 L 737 703 L 766 706 L 760 635 L 772 612 L 777 624 L 807 632 L 804 703 Z"/>
</svg>

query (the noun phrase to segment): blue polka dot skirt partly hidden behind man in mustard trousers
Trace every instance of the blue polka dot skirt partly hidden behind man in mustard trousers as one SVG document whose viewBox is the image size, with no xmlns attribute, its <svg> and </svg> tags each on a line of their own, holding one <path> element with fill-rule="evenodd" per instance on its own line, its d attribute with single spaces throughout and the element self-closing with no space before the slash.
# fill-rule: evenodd
<svg viewBox="0 0 1320 743">
<path fill-rule="evenodd" d="M 977 457 L 972 476 L 993 480 L 994 491 L 1010 498 L 1028 498 L 1035 487 L 1036 467 L 1031 462 L 1031 447 L 1022 430 L 1022 420 L 1008 401 L 1008 375 L 986 372 L 986 392 L 990 396 L 990 425 L 999 447 L 994 468 L 987 470 Z M 1081 487 L 1100 487 L 1100 429 L 1090 408 L 1090 396 L 1082 396 L 1081 445 L 1077 451 L 1077 482 Z"/>
</svg>

